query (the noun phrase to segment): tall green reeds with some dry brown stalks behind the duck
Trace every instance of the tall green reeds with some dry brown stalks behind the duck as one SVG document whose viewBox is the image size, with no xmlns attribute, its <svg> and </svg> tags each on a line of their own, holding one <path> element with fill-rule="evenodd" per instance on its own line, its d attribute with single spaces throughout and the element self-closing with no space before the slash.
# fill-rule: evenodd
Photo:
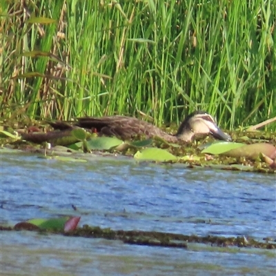
<svg viewBox="0 0 276 276">
<path fill-rule="evenodd" d="M 0 14 L 3 120 L 276 116 L 273 1 L 3 1 Z"/>
</svg>

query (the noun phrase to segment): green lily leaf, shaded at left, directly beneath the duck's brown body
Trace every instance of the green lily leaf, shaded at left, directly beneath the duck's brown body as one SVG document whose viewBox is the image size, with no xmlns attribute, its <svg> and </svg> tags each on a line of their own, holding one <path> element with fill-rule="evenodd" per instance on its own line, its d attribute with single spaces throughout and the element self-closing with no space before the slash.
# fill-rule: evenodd
<svg viewBox="0 0 276 276">
<path fill-rule="evenodd" d="M 123 143 L 124 141 L 116 137 L 92 137 L 87 141 L 87 146 L 89 150 L 110 150 Z"/>
</svg>

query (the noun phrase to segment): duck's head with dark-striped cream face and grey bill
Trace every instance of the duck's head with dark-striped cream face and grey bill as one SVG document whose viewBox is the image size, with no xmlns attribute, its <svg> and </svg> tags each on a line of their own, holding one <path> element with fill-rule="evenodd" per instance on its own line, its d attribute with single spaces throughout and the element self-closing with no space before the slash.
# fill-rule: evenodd
<svg viewBox="0 0 276 276">
<path fill-rule="evenodd" d="M 212 135 L 216 139 L 232 140 L 230 135 L 217 126 L 214 118 L 204 111 L 195 111 L 186 117 L 176 134 L 177 138 L 183 141 L 190 141 L 195 135 Z"/>
</svg>

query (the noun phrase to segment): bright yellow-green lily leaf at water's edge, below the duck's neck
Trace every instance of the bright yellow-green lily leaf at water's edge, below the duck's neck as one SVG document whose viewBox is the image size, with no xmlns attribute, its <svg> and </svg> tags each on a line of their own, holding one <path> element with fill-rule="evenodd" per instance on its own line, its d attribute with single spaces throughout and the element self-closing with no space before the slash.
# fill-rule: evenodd
<svg viewBox="0 0 276 276">
<path fill-rule="evenodd" d="M 134 157 L 140 160 L 153 160 L 161 162 L 177 160 L 175 155 L 172 155 L 170 152 L 162 148 L 145 148 L 141 151 L 138 150 Z"/>
</svg>

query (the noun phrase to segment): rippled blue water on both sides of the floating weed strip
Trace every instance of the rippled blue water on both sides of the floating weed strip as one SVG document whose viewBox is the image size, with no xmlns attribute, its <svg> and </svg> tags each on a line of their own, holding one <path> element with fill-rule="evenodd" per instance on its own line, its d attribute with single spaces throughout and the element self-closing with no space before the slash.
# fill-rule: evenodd
<svg viewBox="0 0 276 276">
<path fill-rule="evenodd" d="M 0 161 L 1 224 L 67 214 L 81 215 L 80 225 L 113 230 L 276 238 L 275 175 L 121 157 L 74 163 L 1 153 Z M 274 275 L 276 269 L 275 250 L 153 248 L 24 231 L 1 236 L 1 269 L 14 274 Z"/>
</svg>

